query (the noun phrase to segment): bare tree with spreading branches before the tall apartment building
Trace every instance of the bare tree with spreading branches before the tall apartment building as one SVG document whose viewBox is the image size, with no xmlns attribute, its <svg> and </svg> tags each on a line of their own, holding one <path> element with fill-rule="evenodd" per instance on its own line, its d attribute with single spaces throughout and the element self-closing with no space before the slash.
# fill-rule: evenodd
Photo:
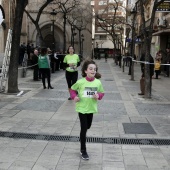
<svg viewBox="0 0 170 170">
<path fill-rule="evenodd" d="M 111 14 L 109 14 L 109 12 Z M 126 24 L 125 12 L 126 8 L 120 5 L 118 0 L 114 0 L 114 3 L 111 4 L 108 3 L 108 5 L 105 7 L 103 11 L 100 11 L 100 13 L 96 12 L 95 14 L 96 26 L 102 28 L 102 30 L 106 32 L 107 37 L 114 44 L 115 50 L 123 49 L 121 33 L 123 31 L 122 25 Z M 123 13 L 124 16 L 122 15 Z M 120 34 L 120 36 L 118 34 Z M 117 64 L 116 57 L 115 62 Z"/>
</svg>

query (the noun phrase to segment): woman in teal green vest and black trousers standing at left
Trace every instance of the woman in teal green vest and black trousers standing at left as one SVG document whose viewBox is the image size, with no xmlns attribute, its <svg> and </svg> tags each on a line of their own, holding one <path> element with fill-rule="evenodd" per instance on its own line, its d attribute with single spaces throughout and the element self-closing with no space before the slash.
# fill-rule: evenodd
<svg viewBox="0 0 170 170">
<path fill-rule="evenodd" d="M 53 89 L 51 86 L 51 72 L 50 72 L 50 60 L 48 56 L 48 50 L 46 47 L 41 48 L 41 54 L 38 56 L 38 67 L 42 74 L 42 83 L 44 89 L 46 89 L 45 78 L 47 77 L 48 89 Z"/>
</svg>

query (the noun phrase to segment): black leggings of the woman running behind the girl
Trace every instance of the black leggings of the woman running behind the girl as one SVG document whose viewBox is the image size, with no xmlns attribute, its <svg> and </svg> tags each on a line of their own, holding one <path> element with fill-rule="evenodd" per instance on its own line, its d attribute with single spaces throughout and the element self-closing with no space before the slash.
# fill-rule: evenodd
<svg viewBox="0 0 170 170">
<path fill-rule="evenodd" d="M 69 89 L 74 83 L 76 83 L 77 78 L 78 78 L 78 71 L 75 72 L 66 71 L 66 81 Z"/>
</svg>

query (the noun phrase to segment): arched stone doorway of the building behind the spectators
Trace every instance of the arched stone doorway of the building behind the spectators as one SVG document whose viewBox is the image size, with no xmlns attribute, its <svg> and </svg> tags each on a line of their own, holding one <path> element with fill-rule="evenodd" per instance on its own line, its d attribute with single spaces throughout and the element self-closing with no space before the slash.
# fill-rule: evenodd
<svg viewBox="0 0 170 170">
<path fill-rule="evenodd" d="M 45 44 L 50 49 L 53 49 L 53 33 L 52 33 L 52 24 L 47 24 L 41 28 L 41 32 L 45 41 Z M 55 39 L 55 50 L 59 51 L 63 49 L 64 41 L 63 41 L 63 31 L 54 26 L 54 39 Z M 36 44 L 39 44 L 39 38 L 36 38 Z"/>
</svg>

